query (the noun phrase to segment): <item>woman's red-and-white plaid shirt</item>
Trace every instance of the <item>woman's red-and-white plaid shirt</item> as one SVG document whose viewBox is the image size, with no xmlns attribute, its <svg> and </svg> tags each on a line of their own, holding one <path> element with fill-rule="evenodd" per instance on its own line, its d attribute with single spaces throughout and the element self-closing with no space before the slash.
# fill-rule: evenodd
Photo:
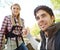
<svg viewBox="0 0 60 50">
<path fill-rule="evenodd" d="M 22 21 L 22 25 L 24 26 L 24 20 L 21 19 Z M 12 28 L 12 22 L 11 22 L 11 18 L 9 16 L 5 16 L 4 21 L 2 23 L 2 27 L 0 30 L 0 46 L 3 45 L 2 41 L 3 41 L 3 35 L 7 33 L 8 31 L 11 31 Z"/>
</svg>

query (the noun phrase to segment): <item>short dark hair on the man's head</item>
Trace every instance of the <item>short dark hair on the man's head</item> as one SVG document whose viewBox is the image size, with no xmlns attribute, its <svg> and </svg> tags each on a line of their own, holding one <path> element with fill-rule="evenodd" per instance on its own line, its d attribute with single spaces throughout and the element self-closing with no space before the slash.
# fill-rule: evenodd
<svg viewBox="0 0 60 50">
<path fill-rule="evenodd" d="M 36 8 L 34 9 L 34 15 L 35 15 L 35 16 L 36 16 L 36 13 L 37 13 L 39 10 L 44 10 L 44 11 L 46 11 L 50 16 L 54 16 L 52 9 L 49 8 L 48 6 L 45 6 L 45 5 L 38 6 L 38 7 L 36 7 Z"/>
</svg>

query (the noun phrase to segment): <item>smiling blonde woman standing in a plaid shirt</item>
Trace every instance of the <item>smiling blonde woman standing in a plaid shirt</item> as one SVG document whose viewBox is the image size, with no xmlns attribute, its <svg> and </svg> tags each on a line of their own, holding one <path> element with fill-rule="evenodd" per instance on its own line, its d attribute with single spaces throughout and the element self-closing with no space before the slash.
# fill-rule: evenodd
<svg viewBox="0 0 60 50">
<path fill-rule="evenodd" d="M 4 18 L 2 28 L 1 28 L 1 33 L 5 35 L 5 37 L 7 38 L 7 43 L 6 43 L 7 48 L 5 50 L 8 50 L 8 49 L 9 50 L 28 50 L 23 42 L 23 37 L 18 36 L 20 35 L 20 32 L 22 32 L 22 30 L 20 30 L 19 28 L 22 29 L 22 27 L 24 27 L 24 20 L 20 18 L 20 11 L 21 11 L 20 5 L 17 3 L 13 4 L 11 6 L 11 11 L 12 11 L 12 15 L 6 16 Z M 17 30 L 16 28 L 14 28 L 16 26 L 18 27 Z M 14 30 L 12 31 L 13 28 L 15 29 L 15 31 Z M 13 32 L 14 35 L 17 36 L 17 40 L 15 37 L 12 37 L 11 31 Z M 3 42 L 2 42 L 2 46 L 3 46 Z"/>
</svg>

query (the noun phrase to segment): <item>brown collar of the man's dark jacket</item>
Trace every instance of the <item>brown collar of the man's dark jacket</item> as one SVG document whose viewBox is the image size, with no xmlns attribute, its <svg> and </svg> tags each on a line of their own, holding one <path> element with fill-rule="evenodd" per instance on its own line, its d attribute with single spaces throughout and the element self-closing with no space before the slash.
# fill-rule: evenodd
<svg viewBox="0 0 60 50">
<path fill-rule="evenodd" d="M 48 27 L 46 32 L 48 32 L 48 37 L 52 37 L 60 29 L 60 22 L 54 23 L 52 26 Z"/>
</svg>

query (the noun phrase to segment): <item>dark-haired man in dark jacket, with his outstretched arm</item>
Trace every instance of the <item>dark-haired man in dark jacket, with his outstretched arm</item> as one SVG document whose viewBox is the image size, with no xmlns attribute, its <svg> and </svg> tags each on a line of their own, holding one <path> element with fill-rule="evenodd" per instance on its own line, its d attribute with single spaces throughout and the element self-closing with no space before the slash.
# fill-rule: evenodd
<svg viewBox="0 0 60 50">
<path fill-rule="evenodd" d="M 51 8 L 42 5 L 34 10 L 34 15 L 38 23 L 41 36 L 40 50 L 60 50 L 60 23 L 55 23 L 55 16 Z M 31 44 L 37 50 L 38 42 L 28 34 L 30 31 L 25 29 L 25 34 L 30 39 Z"/>
</svg>

